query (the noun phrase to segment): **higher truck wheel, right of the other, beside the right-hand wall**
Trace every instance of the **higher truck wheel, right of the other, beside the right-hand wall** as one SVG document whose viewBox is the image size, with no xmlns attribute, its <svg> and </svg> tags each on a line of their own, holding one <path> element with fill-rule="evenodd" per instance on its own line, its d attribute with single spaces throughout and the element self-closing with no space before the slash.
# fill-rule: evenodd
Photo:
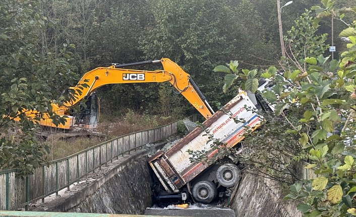
<svg viewBox="0 0 356 217">
<path fill-rule="evenodd" d="M 221 165 L 216 171 L 217 181 L 224 187 L 231 187 L 237 184 L 240 176 L 240 169 L 234 164 Z"/>
</svg>

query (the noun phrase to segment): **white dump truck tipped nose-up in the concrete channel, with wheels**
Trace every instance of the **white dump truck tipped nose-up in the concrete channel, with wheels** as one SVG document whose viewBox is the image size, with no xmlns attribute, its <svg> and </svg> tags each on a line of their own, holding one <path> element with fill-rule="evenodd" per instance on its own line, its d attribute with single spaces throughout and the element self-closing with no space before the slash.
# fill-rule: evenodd
<svg viewBox="0 0 356 217">
<path fill-rule="evenodd" d="M 202 127 L 196 127 L 167 151 L 159 151 L 150 157 L 148 163 L 167 192 L 165 196 L 175 193 L 185 200 L 185 191 L 188 191 L 194 201 L 210 203 L 217 196 L 218 187 L 231 187 L 238 183 L 241 172 L 233 163 L 232 156 L 223 164 L 192 163 L 188 150 L 203 151 L 207 157 L 213 157 L 218 152 L 212 148 L 216 141 L 223 146 L 234 147 L 245 138 L 247 130 L 253 131 L 261 124 L 261 117 L 256 113 L 256 107 L 260 106 L 255 95 L 248 96 L 242 91 L 203 122 Z"/>
</svg>

